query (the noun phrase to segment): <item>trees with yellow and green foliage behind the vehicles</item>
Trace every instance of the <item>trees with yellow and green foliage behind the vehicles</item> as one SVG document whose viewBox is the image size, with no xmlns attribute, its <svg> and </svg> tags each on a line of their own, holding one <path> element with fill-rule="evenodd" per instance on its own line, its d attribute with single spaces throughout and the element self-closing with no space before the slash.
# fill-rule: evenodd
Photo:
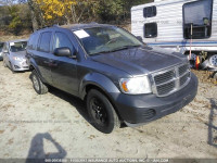
<svg viewBox="0 0 217 163">
<path fill-rule="evenodd" d="M 153 0 L 0 0 L 0 30 L 20 35 L 53 24 L 130 21 L 133 5 Z"/>
</svg>

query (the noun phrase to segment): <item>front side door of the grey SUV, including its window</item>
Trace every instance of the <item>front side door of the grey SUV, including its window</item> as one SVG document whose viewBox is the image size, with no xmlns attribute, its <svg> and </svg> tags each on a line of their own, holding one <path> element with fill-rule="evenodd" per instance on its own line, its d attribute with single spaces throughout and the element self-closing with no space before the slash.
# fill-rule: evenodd
<svg viewBox="0 0 217 163">
<path fill-rule="evenodd" d="M 67 47 L 71 51 L 75 51 L 74 45 L 69 37 L 63 32 L 55 32 L 53 39 L 53 50 L 56 48 Z M 53 85 L 66 92 L 77 95 L 77 60 L 67 57 L 53 55 L 53 64 L 51 66 Z"/>
</svg>

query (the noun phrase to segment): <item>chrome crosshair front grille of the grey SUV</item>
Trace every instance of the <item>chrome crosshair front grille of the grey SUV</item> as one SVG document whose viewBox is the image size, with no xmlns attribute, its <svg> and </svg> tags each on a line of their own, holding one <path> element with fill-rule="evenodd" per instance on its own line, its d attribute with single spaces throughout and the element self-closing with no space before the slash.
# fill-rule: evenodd
<svg viewBox="0 0 217 163">
<path fill-rule="evenodd" d="M 165 97 L 178 91 L 190 80 L 189 64 L 171 67 L 167 71 L 153 74 L 153 91 L 158 97 Z"/>
</svg>

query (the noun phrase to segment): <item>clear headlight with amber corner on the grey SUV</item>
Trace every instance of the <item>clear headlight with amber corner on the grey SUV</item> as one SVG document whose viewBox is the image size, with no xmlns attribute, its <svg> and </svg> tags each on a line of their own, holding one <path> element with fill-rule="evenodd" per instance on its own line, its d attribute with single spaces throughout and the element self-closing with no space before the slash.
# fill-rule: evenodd
<svg viewBox="0 0 217 163">
<path fill-rule="evenodd" d="M 141 95 L 151 93 L 151 84 L 148 76 L 135 78 L 122 78 L 119 80 L 120 89 L 125 93 Z"/>
</svg>

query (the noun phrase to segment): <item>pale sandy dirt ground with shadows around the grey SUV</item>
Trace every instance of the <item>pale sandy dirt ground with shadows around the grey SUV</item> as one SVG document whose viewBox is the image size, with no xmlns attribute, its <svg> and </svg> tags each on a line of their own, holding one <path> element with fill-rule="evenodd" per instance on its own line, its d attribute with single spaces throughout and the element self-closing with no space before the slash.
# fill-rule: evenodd
<svg viewBox="0 0 217 163">
<path fill-rule="evenodd" d="M 175 114 L 111 135 L 87 121 L 84 103 L 60 90 L 38 96 L 29 72 L 0 62 L 0 158 L 215 158 L 217 86 L 203 76 L 196 99 Z"/>
</svg>

